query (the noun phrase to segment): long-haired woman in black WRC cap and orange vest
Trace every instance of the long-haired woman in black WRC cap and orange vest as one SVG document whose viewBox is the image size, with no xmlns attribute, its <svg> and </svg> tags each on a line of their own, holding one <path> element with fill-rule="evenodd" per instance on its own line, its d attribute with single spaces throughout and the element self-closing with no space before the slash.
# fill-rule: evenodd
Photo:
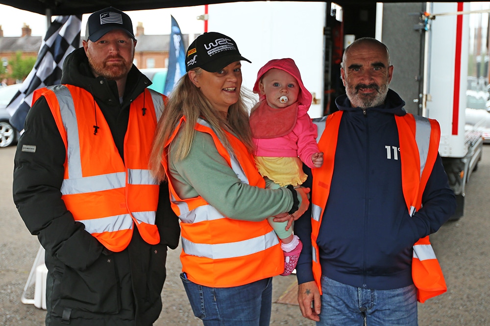
<svg viewBox="0 0 490 326">
<path fill-rule="evenodd" d="M 236 43 L 204 33 L 158 124 L 152 169 L 168 179 L 182 233 L 181 279 L 205 326 L 266 326 L 280 243 L 266 218 L 298 218 L 309 189 L 265 189 L 252 156 Z M 249 61 L 248 61 L 249 62 Z"/>
</svg>

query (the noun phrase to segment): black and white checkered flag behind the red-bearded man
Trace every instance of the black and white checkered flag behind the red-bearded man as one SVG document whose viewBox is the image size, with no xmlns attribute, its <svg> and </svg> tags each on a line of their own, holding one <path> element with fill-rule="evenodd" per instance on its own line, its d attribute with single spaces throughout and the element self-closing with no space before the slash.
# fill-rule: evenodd
<svg viewBox="0 0 490 326">
<path fill-rule="evenodd" d="M 60 83 L 66 56 L 80 46 L 81 25 L 81 16 L 72 15 L 57 16 L 49 26 L 34 67 L 7 106 L 10 123 L 17 130 L 24 129 L 34 90 Z"/>
</svg>

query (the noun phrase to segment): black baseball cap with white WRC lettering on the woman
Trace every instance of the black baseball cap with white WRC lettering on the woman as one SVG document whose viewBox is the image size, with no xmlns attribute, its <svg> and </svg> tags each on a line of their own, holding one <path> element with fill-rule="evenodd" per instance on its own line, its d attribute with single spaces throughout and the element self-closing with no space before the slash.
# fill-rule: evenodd
<svg viewBox="0 0 490 326">
<path fill-rule="evenodd" d="M 242 57 L 237 43 L 230 37 L 217 32 L 199 35 L 187 48 L 185 70 L 202 68 L 209 72 L 220 71 L 225 66 L 235 62 L 250 60 Z"/>
</svg>

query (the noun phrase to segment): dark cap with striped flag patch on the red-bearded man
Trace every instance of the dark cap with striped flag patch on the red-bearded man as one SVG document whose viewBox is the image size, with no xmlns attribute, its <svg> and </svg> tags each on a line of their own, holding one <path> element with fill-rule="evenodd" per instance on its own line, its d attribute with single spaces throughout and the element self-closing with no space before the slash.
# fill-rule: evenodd
<svg viewBox="0 0 490 326">
<path fill-rule="evenodd" d="M 99 11 L 96 11 L 90 15 L 87 21 L 87 28 L 85 30 L 85 37 L 92 42 L 98 41 L 106 33 L 113 29 L 122 29 L 133 40 L 133 23 L 131 18 L 121 10 L 114 7 L 108 7 Z"/>
</svg>

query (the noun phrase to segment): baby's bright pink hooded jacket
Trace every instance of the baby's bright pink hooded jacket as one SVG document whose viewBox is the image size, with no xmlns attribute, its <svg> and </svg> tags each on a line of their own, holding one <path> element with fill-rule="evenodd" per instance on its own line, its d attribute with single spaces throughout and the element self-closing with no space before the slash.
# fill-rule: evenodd
<svg viewBox="0 0 490 326">
<path fill-rule="evenodd" d="M 308 115 L 308 109 L 312 102 L 311 93 L 304 87 L 299 69 L 293 59 L 274 59 L 270 60 L 257 73 L 257 80 L 253 87 L 253 92 L 260 94 L 259 83 L 262 76 L 272 68 L 284 70 L 291 74 L 300 87 L 298 94 L 298 113 L 296 124 L 291 132 L 275 138 L 253 138 L 255 144 L 256 156 L 269 157 L 296 157 L 299 156 L 301 161 L 308 167 L 313 168 L 311 156 L 319 152 L 317 145 L 317 126 L 311 121 Z M 259 95 L 259 100 L 265 101 L 265 95 Z M 270 124 L 281 123 L 281 121 L 270 121 Z"/>
</svg>

